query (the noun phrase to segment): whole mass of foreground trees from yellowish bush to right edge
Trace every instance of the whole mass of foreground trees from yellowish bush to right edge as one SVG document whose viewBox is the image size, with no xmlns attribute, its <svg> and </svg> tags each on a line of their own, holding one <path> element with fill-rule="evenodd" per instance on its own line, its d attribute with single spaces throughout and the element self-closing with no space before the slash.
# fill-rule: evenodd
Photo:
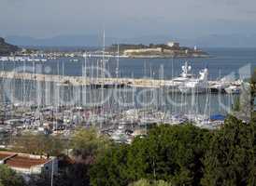
<svg viewBox="0 0 256 186">
<path fill-rule="evenodd" d="M 230 116 L 213 131 L 156 126 L 131 145 L 114 145 L 95 129 L 79 129 L 72 138 L 73 153 L 93 161 L 68 166 L 55 185 L 256 185 L 255 124 L 255 118 L 245 124 Z"/>
</svg>

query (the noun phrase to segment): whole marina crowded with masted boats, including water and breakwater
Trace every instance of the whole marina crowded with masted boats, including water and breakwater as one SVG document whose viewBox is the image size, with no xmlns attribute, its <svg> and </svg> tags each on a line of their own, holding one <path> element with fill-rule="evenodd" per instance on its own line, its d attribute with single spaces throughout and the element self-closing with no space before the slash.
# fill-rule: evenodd
<svg viewBox="0 0 256 186">
<path fill-rule="evenodd" d="M 0 137 L 29 130 L 69 138 L 75 128 L 93 126 L 112 140 L 130 143 L 150 126 L 192 123 L 214 129 L 223 124 L 244 84 L 209 80 L 207 68 L 193 74 L 187 61 L 171 79 L 164 77 L 163 65 L 159 78 L 151 70 L 149 77 L 121 77 L 119 58 L 111 75 L 107 62 L 90 65 L 84 58 L 77 76 L 65 75 L 63 66 L 57 74 L 44 73 L 46 68 L 38 70 L 35 61 L 22 61 L 13 71 L 3 67 Z"/>
</svg>

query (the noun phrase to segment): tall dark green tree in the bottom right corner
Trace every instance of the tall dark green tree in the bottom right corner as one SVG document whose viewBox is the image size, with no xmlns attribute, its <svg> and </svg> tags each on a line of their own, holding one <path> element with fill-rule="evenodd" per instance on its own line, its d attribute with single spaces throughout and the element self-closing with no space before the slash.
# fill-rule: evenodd
<svg viewBox="0 0 256 186">
<path fill-rule="evenodd" d="M 202 185 L 256 185 L 254 127 L 230 116 L 215 132 L 204 160 Z"/>
</svg>

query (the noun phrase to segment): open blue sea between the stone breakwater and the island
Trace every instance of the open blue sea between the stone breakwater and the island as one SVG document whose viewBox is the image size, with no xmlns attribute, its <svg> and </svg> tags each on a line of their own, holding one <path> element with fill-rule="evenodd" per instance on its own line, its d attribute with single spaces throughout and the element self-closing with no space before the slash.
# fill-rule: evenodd
<svg viewBox="0 0 256 186">
<path fill-rule="evenodd" d="M 120 59 L 120 75 L 121 77 L 135 78 L 149 77 L 159 78 L 160 67 L 164 66 L 164 79 L 178 76 L 181 66 L 188 61 L 192 66 L 192 73 L 197 74 L 199 70 L 208 68 L 209 79 L 214 80 L 230 73 L 234 73 L 239 77 L 239 69 L 249 65 L 251 71 L 256 67 L 256 48 L 203 48 L 209 54 L 208 58 L 179 58 L 179 59 Z M 87 59 L 87 66 L 96 66 L 95 58 Z M 84 59 L 80 58 L 77 62 L 70 59 L 48 60 L 47 62 L 36 62 L 42 65 L 42 72 L 38 73 L 63 73 L 66 75 L 81 75 Z M 2 69 L 12 71 L 18 66 L 22 66 L 24 62 L 2 62 Z M 32 62 L 25 62 L 26 66 L 32 66 Z M 109 59 L 107 62 L 107 70 L 115 76 L 117 60 Z M 50 67 L 48 71 L 44 71 L 46 67 Z M 58 68 L 59 67 L 59 70 Z M 1 68 L 1 67 L 0 67 Z M 63 71 L 64 69 L 64 71 Z M 244 72 L 246 73 L 246 72 Z M 243 74 L 240 74 L 243 75 Z M 249 72 L 244 74 L 249 76 Z"/>
</svg>

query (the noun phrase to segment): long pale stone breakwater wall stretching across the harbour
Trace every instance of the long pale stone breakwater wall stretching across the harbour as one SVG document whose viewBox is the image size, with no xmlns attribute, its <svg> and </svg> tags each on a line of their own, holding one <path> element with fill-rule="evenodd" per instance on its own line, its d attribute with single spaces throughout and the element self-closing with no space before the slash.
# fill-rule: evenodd
<svg viewBox="0 0 256 186">
<path fill-rule="evenodd" d="M 113 78 L 113 77 L 84 77 L 84 76 L 69 76 L 57 74 L 42 74 L 42 73 L 16 73 L 0 71 L 0 78 L 20 79 L 39 82 L 53 82 L 61 85 L 72 86 L 133 86 L 133 87 L 149 87 L 158 88 L 163 86 L 177 86 L 173 80 L 150 79 L 150 78 Z M 209 88 L 220 84 L 220 81 L 208 81 Z M 241 83 L 230 81 L 225 82 L 227 85 L 241 86 Z"/>
</svg>

